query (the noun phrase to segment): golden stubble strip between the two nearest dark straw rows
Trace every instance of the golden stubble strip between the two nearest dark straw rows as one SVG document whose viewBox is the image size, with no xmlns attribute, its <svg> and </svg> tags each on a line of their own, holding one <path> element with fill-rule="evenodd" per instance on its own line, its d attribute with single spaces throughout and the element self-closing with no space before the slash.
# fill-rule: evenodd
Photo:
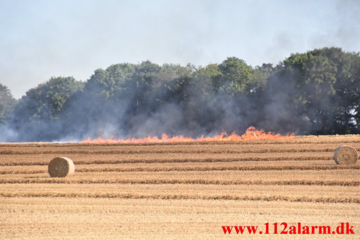
<svg viewBox="0 0 360 240">
<path fill-rule="evenodd" d="M 14 193 L 14 189 L 17 189 Z M 334 192 L 342 192 L 341 196 Z M 191 184 L 12 184 L 0 196 L 148 199 L 223 199 L 321 203 L 360 203 L 357 186 L 322 185 L 199 185 Z"/>
</svg>

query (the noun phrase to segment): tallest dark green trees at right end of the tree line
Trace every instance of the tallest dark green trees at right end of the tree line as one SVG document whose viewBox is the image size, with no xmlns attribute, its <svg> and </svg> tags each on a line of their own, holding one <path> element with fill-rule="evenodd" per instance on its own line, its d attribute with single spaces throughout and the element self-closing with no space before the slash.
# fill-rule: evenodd
<svg viewBox="0 0 360 240">
<path fill-rule="evenodd" d="M 284 81 L 295 83 L 294 99 L 319 134 L 359 129 L 359 54 L 322 48 L 284 60 Z M 357 125 L 357 126 L 356 126 Z"/>
</svg>

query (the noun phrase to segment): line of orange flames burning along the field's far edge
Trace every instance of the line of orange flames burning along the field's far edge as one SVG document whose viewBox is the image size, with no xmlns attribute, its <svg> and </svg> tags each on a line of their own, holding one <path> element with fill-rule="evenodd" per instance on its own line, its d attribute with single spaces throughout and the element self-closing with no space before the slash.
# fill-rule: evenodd
<svg viewBox="0 0 360 240">
<path fill-rule="evenodd" d="M 145 138 L 129 138 L 129 139 L 103 139 L 101 137 L 97 139 L 91 139 L 90 137 L 87 138 L 86 141 L 80 143 L 95 143 L 95 144 L 135 144 L 135 143 L 176 143 L 176 142 L 206 142 L 206 141 L 245 141 L 245 140 L 268 140 L 268 139 L 290 139 L 294 138 L 295 134 L 286 134 L 281 135 L 279 133 L 275 134 L 273 132 L 265 132 L 264 130 L 260 129 L 257 130 L 254 127 L 249 127 L 246 129 L 246 132 L 243 135 L 237 135 L 235 132 L 228 135 L 226 132 L 222 132 L 220 135 L 216 135 L 214 137 L 204 137 L 202 135 L 199 138 L 189 138 L 180 136 L 173 136 L 169 137 L 167 134 L 162 134 L 161 138 L 148 136 Z"/>
</svg>

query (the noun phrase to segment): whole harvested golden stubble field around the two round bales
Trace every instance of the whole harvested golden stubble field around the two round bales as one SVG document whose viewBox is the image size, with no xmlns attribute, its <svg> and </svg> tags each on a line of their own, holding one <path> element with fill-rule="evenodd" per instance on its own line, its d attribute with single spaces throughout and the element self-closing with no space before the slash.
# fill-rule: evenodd
<svg viewBox="0 0 360 240">
<path fill-rule="evenodd" d="M 359 239 L 360 136 L 163 144 L 0 144 L 0 239 Z M 74 176 L 47 165 L 71 158 Z M 355 234 L 224 234 L 340 222 Z M 280 229 L 282 230 L 282 228 Z"/>
</svg>

